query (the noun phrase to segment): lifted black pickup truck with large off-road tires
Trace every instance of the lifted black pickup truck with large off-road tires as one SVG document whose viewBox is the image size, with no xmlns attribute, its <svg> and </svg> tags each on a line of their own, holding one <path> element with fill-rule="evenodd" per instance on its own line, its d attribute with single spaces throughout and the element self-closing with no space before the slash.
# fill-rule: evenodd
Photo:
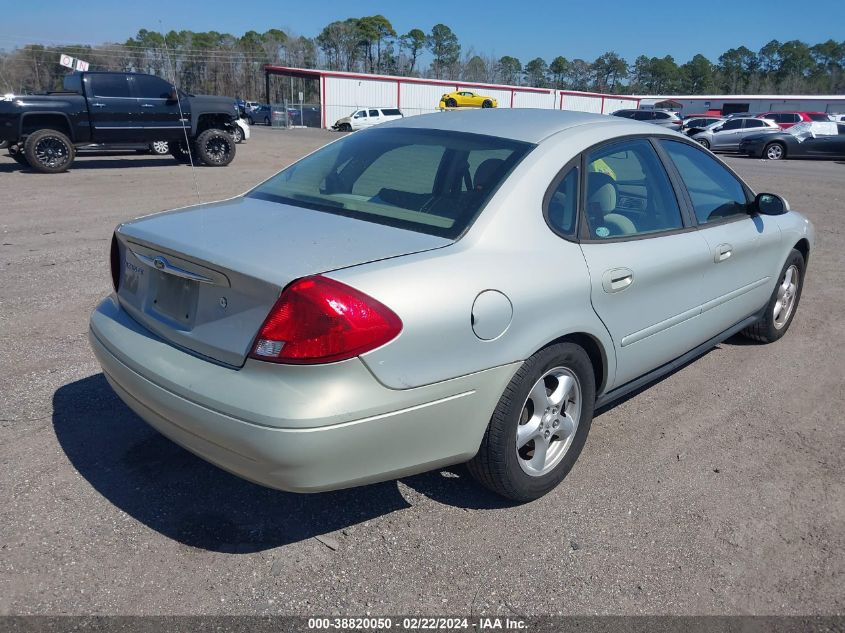
<svg viewBox="0 0 845 633">
<path fill-rule="evenodd" d="M 235 157 L 234 99 L 189 95 L 140 73 L 65 76 L 64 91 L 0 96 L 0 141 L 19 163 L 65 171 L 91 143 L 168 141 L 173 156 L 222 167 Z"/>
</svg>

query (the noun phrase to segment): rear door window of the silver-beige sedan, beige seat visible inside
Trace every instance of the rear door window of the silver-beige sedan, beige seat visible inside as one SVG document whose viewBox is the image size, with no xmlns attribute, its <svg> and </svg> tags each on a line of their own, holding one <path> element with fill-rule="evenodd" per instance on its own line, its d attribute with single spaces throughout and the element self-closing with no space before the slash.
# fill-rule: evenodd
<svg viewBox="0 0 845 633">
<path fill-rule="evenodd" d="M 643 235 L 683 228 L 669 177 L 651 143 L 623 141 L 587 156 L 589 237 Z"/>
</svg>

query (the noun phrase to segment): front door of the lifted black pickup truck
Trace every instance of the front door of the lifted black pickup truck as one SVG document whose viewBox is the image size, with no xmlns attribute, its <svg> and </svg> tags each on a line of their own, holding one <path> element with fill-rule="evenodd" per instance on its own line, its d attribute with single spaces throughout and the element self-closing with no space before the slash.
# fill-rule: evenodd
<svg viewBox="0 0 845 633">
<path fill-rule="evenodd" d="M 152 75 L 133 75 L 130 83 L 138 98 L 139 116 L 147 131 L 156 140 L 184 140 L 185 128 L 190 129 L 190 103 L 171 99 L 173 86 Z M 148 135 L 149 136 L 149 135 Z"/>
</svg>

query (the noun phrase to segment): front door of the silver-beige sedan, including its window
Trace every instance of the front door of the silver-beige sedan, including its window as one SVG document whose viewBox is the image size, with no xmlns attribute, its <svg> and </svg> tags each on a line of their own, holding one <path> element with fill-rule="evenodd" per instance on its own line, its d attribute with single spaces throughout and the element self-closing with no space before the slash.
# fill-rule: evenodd
<svg viewBox="0 0 845 633">
<path fill-rule="evenodd" d="M 706 240 L 708 261 L 700 285 L 699 327 L 715 336 L 759 310 L 771 293 L 780 229 L 771 216 L 749 215 L 750 192 L 722 163 L 697 146 L 662 139 L 684 185 L 686 204 Z"/>
</svg>

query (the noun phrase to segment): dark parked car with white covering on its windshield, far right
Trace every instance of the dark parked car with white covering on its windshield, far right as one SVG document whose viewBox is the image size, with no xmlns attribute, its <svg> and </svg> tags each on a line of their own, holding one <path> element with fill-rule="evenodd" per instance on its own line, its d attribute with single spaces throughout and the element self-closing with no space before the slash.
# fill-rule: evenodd
<svg viewBox="0 0 845 633">
<path fill-rule="evenodd" d="M 845 123 L 799 123 L 774 134 L 742 139 L 739 152 L 755 158 L 845 158 Z"/>
</svg>

